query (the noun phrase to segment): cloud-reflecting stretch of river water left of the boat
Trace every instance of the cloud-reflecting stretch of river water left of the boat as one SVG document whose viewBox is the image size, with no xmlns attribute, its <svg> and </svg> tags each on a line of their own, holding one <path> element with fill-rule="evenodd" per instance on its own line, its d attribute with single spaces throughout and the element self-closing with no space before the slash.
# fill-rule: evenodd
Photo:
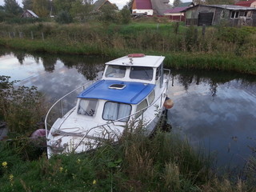
<svg viewBox="0 0 256 192">
<path fill-rule="evenodd" d="M 74 88 L 100 78 L 104 58 L 54 54 L 27 54 L 22 51 L 0 51 L 0 73 L 19 85 L 37 86 L 51 101 Z"/>
</svg>

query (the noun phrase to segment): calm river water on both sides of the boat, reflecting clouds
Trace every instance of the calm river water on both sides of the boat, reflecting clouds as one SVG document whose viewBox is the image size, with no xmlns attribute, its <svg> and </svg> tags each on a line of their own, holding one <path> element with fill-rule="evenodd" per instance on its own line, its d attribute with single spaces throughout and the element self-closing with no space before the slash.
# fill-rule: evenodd
<svg viewBox="0 0 256 192">
<path fill-rule="evenodd" d="M 101 78 L 109 58 L 27 54 L 0 48 L 0 75 L 37 86 L 50 102 Z M 256 78 L 220 71 L 172 70 L 172 131 L 214 156 L 217 166 L 242 167 L 256 148 Z M 177 149 L 178 150 L 178 149 Z"/>
</svg>

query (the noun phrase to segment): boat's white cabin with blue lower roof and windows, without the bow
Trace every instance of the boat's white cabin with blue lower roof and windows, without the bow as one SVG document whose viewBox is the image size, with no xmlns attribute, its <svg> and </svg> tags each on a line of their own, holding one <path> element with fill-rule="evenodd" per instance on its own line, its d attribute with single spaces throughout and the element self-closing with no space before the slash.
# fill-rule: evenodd
<svg viewBox="0 0 256 192">
<path fill-rule="evenodd" d="M 140 117 L 162 93 L 163 60 L 128 55 L 106 62 L 102 80 L 78 95 L 78 115 L 106 122 L 128 122 L 130 114 Z"/>
</svg>

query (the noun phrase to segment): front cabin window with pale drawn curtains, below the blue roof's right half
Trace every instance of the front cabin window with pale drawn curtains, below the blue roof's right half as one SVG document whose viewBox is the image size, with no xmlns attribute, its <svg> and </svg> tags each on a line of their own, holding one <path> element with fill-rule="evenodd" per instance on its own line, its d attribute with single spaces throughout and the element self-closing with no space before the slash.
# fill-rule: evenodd
<svg viewBox="0 0 256 192">
<path fill-rule="evenodd" d="M 131 111 L 131 106 L 120 102 L 106 102 L 102 118 L 107 121 L 115 121 L 120 118 L 120 122 L 127 122 Z M 126 118 L 127 117 L 127 118 Z"/>
</svg>

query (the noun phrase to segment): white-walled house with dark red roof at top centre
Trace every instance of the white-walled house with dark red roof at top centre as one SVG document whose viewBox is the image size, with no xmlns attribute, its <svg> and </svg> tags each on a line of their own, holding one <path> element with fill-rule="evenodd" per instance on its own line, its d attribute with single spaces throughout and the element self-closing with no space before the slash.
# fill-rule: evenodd
<svg viewBox="0 0 256 192">
<path fill-rule="evenodd" d="M 153 15 L 153 8 L 150 0 L 134 0 L 132 4 L 132 14 Z"/>
</svg>

